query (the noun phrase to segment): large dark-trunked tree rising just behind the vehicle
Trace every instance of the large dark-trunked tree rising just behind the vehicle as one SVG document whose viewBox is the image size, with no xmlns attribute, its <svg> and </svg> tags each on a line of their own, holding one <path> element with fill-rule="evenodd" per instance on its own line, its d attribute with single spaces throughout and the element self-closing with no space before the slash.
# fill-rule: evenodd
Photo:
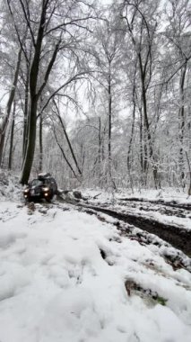
<svg viewBox="0 0 191 342">
<path fill-rule="evenodd" d="M 76 7 L 75 2 L 62 4 L 58 0 L 41 0 L 40 10 L 38 4 L 22 0 L 18 0 L 17 4 L 15 2 L 13 4 L 11 1 L 8 3 L 13 18 L 15 14 L 19 15 L 21 13 L 24 23 L 30 32 L 30 40 L 32 42 L 29 75 L 30 110 L 28 142 L 21 177 L 21 182 L 24 184 L 28 182 L 34 157 L 40 95 L 46 89 L 59 52 L 63 49 L 68 49 L 68 46 L 72 49 L 74 42 L 77 40 L 79 30 L 83 28 L 83 23 L 91 18 L 92 15 L 90 11 L 89 14 L 87 14 L 87 11 L 85 12 L 85 2 L 83 2 L 81 7 Z M 89 6 L 88 10 L 90 10 Z M 74 33 L 74 28 L 76 28 L 76 34 Z M 15 29 L 18 33 L 22 50 L 26 52 L 20 39 L 21 33 L 17 26 L 15 26 Z"/>
</svg>

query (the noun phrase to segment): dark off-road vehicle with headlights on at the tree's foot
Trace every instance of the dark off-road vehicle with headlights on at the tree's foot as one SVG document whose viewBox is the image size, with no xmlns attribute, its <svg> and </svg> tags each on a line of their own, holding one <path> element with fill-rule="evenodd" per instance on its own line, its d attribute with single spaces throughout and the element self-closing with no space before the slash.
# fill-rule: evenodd
<svg viewBox="0 0 191 342">
<path fill-rule="evenodd" d="M 39 174 L 37 179 L 33 179 L 23 191 L 26 201 L 45 199 L 50 202 L 57 193 L 56 180 L 50 174 Z"/>
</svg>

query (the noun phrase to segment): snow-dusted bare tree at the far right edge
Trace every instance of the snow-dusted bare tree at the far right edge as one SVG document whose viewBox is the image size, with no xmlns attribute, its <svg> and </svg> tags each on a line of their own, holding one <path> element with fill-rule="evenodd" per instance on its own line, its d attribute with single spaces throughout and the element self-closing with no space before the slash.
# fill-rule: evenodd
<svg viewBox="0 0 191 342">
<path fill-rule="evenodd" d="M 190 18 L 188 14 L 189 2 L 187 0 L 169 0 L 166 9 L 168 24 L 164 35 L 168 40 L 168 63 L 165 65 L 166 74 L 175 76 L 170 81 L 174 83 L 176 102 L 178 100 L 178 140 L 179 140 L 179 169 L 180 184 L 185 186 L 184 139 L 187 118 L 188 88 L 187 78 L 189 59 L 191 57 L 191 34 L 187 31 Z M 179 79 L 178 79 L 179 78 Z"/>
</svg>

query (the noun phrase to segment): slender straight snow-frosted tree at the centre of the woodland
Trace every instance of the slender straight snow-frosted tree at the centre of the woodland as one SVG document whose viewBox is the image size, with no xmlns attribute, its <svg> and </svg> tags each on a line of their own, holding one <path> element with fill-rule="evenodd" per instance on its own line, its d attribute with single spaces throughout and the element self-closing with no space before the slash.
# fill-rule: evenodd
<svg viewBox="0 0 191 342">
<path fill-rule="evenodd" d="M 116 189 L 116 184 L 112 172 L 113 157 L 112 157 L 112 121 L 114 113 L 117 111 L 117 86 L 118 78 L 118 63 L 120 61 L 121 53 L 121 40 L 123 39 L 123 32 L 117 31 L 117 23 L 112 20 L 105 21 L 99 25 L 94 31 L 95 41 L 97 46 L 92 53 L 96 58 L 98 66 L 98 88 L 100 87 L 102 94 L 105 97 L 106 104 L 106 117 L 107 117 L 107 131 L 108 131 L 108 163 L 104 171 L 104 183 Z M 100 140 L 99 140 L 100 141 Z M 100 147 L 99 159 L 100 160 Z"/>
</svg>

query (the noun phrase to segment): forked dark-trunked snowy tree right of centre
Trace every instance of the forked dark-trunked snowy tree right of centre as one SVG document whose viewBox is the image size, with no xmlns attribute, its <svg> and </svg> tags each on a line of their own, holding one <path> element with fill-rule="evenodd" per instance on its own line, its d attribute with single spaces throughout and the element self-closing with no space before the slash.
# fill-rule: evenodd
<svg viewBox="0 0 191 342">
<path fill-rule="evenodd" d="M 135 83 L 136 96 L 139 101 L 140 112 L 140 145 L 141 165 L 146 177 L 148 163 L 152 166 L 152 173 L 157 187 L 157 166 L 154 160 L 151 120 L 149 115 L 148 92 L 152 81 L 153 61 L 156 48 L 158 4 L 151 1 L 124 1 L 121 4 L 121 19 L 125 25 L 128 36 L 131 39 L 129 49 L 134 49 L 135 63 L 138 67 L 137 76 L 139 82 Z M 137 62 L 136 62 L 137 60 Z M 138 99 L 139 87 L 141 88 Z M 146 178 L 144 180 L 146 182 Z"/>
</svg>

